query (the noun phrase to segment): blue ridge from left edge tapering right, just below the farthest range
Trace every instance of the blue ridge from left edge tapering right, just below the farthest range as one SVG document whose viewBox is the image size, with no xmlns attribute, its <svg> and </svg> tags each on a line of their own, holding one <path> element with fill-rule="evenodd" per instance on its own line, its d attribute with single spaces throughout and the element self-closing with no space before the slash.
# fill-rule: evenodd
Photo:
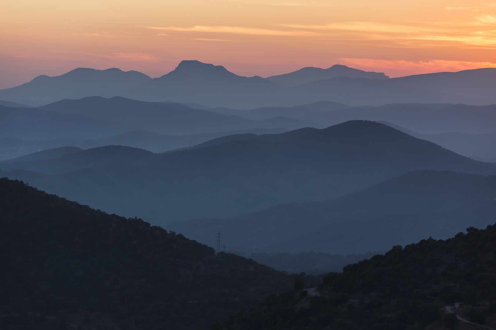
<svg viewBox="0 0 496 330">
<path fill-rule="evenodd" d="M 22 140 L 101 139 L 136 130 L 191 135 L 258 128 L 324 127 L 282 116 L 254 121 L 192 109 L 180 103 L 144 102 L 117 96 L 65 99 L 39 108 L 0 105 L 0 115 L 0 139 Z"/>
</svg>

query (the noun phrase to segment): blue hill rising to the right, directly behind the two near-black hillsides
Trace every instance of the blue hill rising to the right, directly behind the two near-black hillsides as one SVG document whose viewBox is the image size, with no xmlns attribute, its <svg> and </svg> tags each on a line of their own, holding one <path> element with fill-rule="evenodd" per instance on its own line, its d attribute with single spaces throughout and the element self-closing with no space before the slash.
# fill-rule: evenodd
<svg viewBox="0 0 496 330">
<path fill-rule="evenodd" d="M 295 202 L 238 218 L 189 220 L 171 227 L 209 245 L 211 235 L 206 233 L 218 229 L 235 251 L 349 254 L 429 236 L 445 239 L 467 226 L 486 228 L 495 216 L 495 176 L 424 170 L 329 201 Z"/>
</svg>

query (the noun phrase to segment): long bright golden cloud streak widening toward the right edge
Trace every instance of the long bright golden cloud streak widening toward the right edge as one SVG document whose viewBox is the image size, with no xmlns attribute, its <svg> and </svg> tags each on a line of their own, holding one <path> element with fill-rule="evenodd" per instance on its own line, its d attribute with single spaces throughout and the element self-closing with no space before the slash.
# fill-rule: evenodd
<svg viewBox="0 0 496 330">
<path fill-rule="evenodd" d="M 470 15 L 464 20 L 393 24 L 373 21 L 333 22 L 328 24 L 274 24 L 274 28 L 240 26 L 148 26 L 152 30 L 187 33 L 240 34 L 255 36 L 307 37 L 315 40 L 385 42 L 397 47 L 479 47 L 496 48 L 496 17 Z M 162 35 L 159 34 L 159 35 Z M 195 35 L 195 40 L 225 41 L 218 35 Z M 199 37 L 199 38 L 198 38 Z"/>
</svg>

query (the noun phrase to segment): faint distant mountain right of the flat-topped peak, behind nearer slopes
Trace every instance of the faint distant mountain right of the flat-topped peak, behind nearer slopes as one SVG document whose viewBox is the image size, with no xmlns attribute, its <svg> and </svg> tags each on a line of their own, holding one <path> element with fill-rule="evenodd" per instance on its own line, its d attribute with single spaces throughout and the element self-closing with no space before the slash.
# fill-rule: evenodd
<svg viewBox="0 0 496 330">
<path fill-rule="evenodd" d="M 327 80 L 335 77 L 367 78 L 367 79 L 388 79 L 383 72 L 368 72 L 347 67 L 346 65 L 334 64 L 330 68 L 322 69 L 308 66 L 306 68 L 285 73 L 277 76 L 270 76 L 266 79 L 281 86 L 298 86 L 311 83 L 317 80 Z"/>
</svg>

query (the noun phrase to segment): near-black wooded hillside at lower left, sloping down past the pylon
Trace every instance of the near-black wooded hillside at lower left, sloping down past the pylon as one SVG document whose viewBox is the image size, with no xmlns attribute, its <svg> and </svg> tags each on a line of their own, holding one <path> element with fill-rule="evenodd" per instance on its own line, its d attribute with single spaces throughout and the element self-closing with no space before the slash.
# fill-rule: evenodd
<svg viewBox="0 0 496 330">
<path fill-rule="evenodd" d="M 292 285 L 141 219 L 0 179 L 2 329 L 184 329 Z"/>
</svg>

